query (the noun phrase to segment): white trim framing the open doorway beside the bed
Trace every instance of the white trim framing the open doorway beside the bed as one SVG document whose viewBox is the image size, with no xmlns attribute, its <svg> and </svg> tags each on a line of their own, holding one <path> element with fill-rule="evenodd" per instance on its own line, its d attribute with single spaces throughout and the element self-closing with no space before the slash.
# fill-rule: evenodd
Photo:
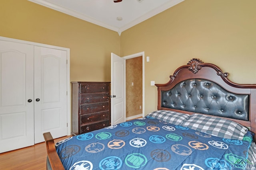
<svg viewBox="0 0 256 170">
<path fill-rule="evenodd" d="M 132 54 L 132 55 L 127 55 L 123 57 L 124 60 L 127 59 L 132 59 L 136 57 L 142 56 L 142 117 L 145 116 L 145 52 L 142 51 L 140 53 Z M 124 62 L 125 64 L 126 62 Z M 126 73 L 126 65 L 124 65 L 124 74 Z"/>
</svg>

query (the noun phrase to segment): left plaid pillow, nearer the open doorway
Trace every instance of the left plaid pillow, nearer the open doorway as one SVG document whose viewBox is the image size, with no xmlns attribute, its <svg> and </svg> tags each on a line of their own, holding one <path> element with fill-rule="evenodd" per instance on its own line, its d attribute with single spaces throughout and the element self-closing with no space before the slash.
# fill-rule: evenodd
<svg viewBox="0 0 256 170">
<path fill-rule="evenodd" d="M 168 123 L 172 123 L 174 125 L 182 125 L 182 123 L 190 117 L 189 114 L 179 113 L 170 110 L 154 111 L 152 113 L 149 113 L 148 116 Z"/>
</svg>

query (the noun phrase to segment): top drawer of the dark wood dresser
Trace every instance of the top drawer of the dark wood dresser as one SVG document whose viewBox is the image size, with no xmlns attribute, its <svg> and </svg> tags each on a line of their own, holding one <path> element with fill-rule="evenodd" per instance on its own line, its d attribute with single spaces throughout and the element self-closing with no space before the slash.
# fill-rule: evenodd
<svg viewBox="0 0 256 170">
<path fill-rule="evenodd" d="M 109 83 L 81 83 L 81 93 L 109 92 Z"/>
</svg>

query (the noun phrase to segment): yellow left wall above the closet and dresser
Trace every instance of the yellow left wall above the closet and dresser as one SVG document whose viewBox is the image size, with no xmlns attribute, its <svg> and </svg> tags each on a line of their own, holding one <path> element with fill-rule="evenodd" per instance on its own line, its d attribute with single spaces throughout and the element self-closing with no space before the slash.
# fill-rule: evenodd
<svg viewBox="0 0 256 170">
<path fill-rule="evenodd" d="M 1 0 L 0 36 L 70 48 L 71 81 L 110 81 L 110 53 L 120 53 L 115 31 L 27 0 Z"/>
</svg>

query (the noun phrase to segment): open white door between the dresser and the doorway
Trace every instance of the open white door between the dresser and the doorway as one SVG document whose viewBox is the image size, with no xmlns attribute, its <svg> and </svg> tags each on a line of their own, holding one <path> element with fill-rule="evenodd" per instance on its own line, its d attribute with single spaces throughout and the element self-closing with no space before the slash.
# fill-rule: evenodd
<svg viewBox="0 0 256 170">
<path fill-rule="evenodd" d="M 125 60 L 111 53 L 111 125 L 126 121 Z"/>
</svg>

